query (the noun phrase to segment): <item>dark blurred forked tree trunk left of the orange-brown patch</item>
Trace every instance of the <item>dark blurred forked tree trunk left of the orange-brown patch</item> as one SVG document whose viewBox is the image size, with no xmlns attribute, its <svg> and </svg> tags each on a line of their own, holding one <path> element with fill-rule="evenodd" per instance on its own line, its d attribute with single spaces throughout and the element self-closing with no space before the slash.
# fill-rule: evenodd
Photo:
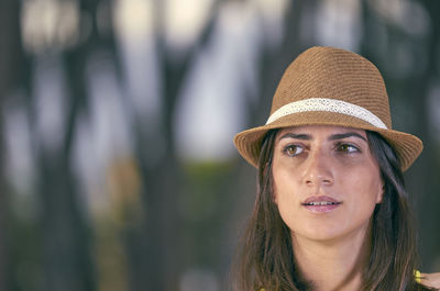
<svg viewBox="0 0 440 291">
<path fill-rule="evenodd" d="M 42 145 L 37 147 L 38 195 L 42 201 L 43 289 L 48 291 L 97 290 L 90 217 L 79 198 L 72 154 L 78 121 L 88 112 L 87 63 L 100 48 L 114 51 L 114 44 L 103 41 L 98 34 L 96 18 L 101 1 L 78 1 L 80 16 L 89 20 L 91 30 L 89 35 L 80 31 L 82 41 L 61 55 L 68 100 L 62 144 L 59 148 L 48 149 L 43 146 L 41 136 L 34 136 L 36 144 Z M 33 111 L 34 115 L 38 114 L 35 109 Z M 32 132 L 37 133 L 35 130 Z"/>
</svg>

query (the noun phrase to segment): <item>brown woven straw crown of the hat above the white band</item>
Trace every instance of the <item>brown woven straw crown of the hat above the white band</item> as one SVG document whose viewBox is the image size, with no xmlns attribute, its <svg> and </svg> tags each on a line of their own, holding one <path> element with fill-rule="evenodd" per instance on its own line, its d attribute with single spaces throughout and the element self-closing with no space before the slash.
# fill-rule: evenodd
<svg viewBox="0 0 440 291">
<path fill-rule="evenodd" d="M 319 46 L 300 54 L 279 81 L 271 114 L 286 104 L 307 99 L 333 99 L 361 107 L 392 128 L 382 75 L 358 54 Z"/>
</svg>

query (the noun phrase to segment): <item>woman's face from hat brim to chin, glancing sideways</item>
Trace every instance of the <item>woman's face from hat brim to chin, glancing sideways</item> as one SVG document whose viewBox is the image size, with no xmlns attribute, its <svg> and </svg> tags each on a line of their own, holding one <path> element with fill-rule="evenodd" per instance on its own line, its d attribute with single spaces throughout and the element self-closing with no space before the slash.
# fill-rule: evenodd
<svg viewBox="0 0 440 291">
<path fill-rule="evenodd" d="M 367 232 L 383 181 L 365 131 L 280 130 L 272 167 L 274 201 L 294 238 L 330 242 Z"/>
</svg>

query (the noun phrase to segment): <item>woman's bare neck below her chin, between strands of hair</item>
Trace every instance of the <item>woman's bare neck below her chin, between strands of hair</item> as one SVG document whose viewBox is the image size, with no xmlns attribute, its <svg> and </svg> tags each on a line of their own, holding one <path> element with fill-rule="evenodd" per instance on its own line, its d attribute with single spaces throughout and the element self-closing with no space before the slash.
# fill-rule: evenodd
<svg viewBox="0 0 440 291">
<path fill-rule="evenodd" d="M 295 264 L 314 291 L 359 291 L 369 264 L 370 232 L 333 242 L 315 242 L 293 234 Z"/>
</svg>

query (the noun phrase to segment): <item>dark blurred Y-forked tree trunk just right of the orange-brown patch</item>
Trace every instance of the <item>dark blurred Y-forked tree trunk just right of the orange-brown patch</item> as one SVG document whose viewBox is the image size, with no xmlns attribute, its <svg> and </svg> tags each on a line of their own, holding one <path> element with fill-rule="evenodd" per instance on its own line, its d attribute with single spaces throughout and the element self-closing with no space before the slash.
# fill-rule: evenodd
<svg viewBox="0 0 440 291">
<path fill-rule="evenodd" d="M 143 177 L 143 198 L 145 204 L 145 231 L 143 249 L 138 254 L 144 268 L 138 268 L 133 276 L 136 284 L 133 291 L 173 291 L 178 290 L 182 275 L 180 210 L 183 193 L 183 168 L 177 157 L 174 141 L 174 117 L 183 82 L 193 65 L 197 53 L 202 49 L 213 29 L 218 14 L 219 1 L 212 7 L 209 23 L 189 52 L 176 61 L 165 43 L 164 2 L 156 1 L 156 44 L 160 74 L 162 74 L 162 112 L 161 120 L 145 134 L 142 119 L 135 122 L 136 156 Z M 157 154 L 157 153 L 163 153 Z M 160 161 L 151 164 L 151 155 L 158 155 Z M 157 157 L 157 156 L 156 156 Z M 145 256 L 141 259 L 140 256 Z M 141 264 L 141 262 L 140 262 Z"/>
</svg>

